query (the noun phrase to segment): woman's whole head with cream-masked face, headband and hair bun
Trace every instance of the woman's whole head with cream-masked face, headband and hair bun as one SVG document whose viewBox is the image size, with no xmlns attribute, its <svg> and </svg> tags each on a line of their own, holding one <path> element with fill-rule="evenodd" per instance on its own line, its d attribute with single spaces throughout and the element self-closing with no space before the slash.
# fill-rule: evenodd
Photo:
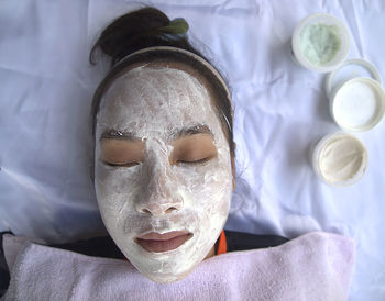
<svg viewBox="0 0 385 301">
<path fill-rule="evenodd" d="M 169 24 L 153 8 L 131 12 L 92 49 L 112 58 L 92 102 L 98 205 L 117 246 L 156 282 L 209 256 L 234 188 L 228 87 Z"/>
</svg>

